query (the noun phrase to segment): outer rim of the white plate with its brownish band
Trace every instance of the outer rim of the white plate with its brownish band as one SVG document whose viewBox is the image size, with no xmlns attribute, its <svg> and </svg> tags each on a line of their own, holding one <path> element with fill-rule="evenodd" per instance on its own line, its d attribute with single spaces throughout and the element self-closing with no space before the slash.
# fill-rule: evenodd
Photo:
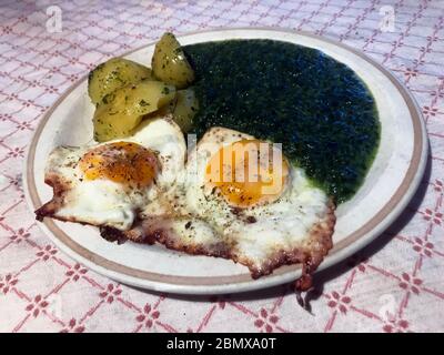
<svg viewBox="0 0 444 355">
<path fill-rule="evenodd" d="M 364 225 L 352 234 L 344 237 L 342 241 L 336 243 L 325 257 L 324 262 L 321 263 L 316 272 L 327 268 L 333 264 L 336 264 L 345 257 L 352 255 L 356 251 L 361 250 L 373 240 L 375 240 L 381 233 L 396 220 L 396 217 L 404 211 L 407 203 L 416 192 L 421 179 L 424 174 L 426 166 L 426 158 L 428 152 L 428 138 L 426 134 L 425 123 L 422 119 L 422 112 L 418 108 L 414 97 L 408 92 L 407 88 L 394 77 L 387 69 L 382 64 L 377 63 L 372 58 L 364 54 L 362 51 L 356 50 L 347 44 L 337 42 L 333 39 L 325 38 L 322 36 L 313 34 L 306 31 L 294 31 L 290 29 L 281 29 L 273 27 L 240 27 L 240 28 L 219 28 L 219 29 L 206 29 L 193 32 L 185 32 L 178 34 L 178 38 L 211 33 L 211 32 L 224 32 L 224 31 L 269 31 L 269 32 L 281 32 L 293 36 L 303 36 L 326 42 L 327 44 L 337 45 L 353 54 L 364 59 L 375 69 L 384 74 L 395 85 L 398 93 L 402 95 L 412 119 L 413 124 L 413 138 L 414 146 L 412 153 L 412 160 L 410 161 L 408 169 L 404 175 L 401 184 L 393 192 L 389 202 Z M 147 47 L 155 44 L 157 41 L 147 43 L 131 51 L 124 52 L 121 57 L 128 57 L 133 52 L 140 51 Z M 77 82 L 69 87 L 58 100 L 51 105 L 51 108 L 43 114 L 42 119 L 38 123 L 33 133 L 32 140 L 27 148 L 24 158 L 24 171 L 23 171 L 23 186 L 27 203 L 31 211 L 34 211 L 41 205 L 40 197 L 37 192 L 34 182 L 34 153 L 39 142 L 40 134 L 46 126 L 46 123 L 54 112 L 54 110 L 67 99 L 67 97 L 75 90 L 84 80 L 88 79 L 88 73 L 81 77 Z M 117 262 L 110 261 L 104 256 L 98 255 L 79 243 L 74 242 L 59 229 L 54 221 L 46 219 L 42 223 L 39 223 L 39 227 L 47 234 L 54 244 L 60 247 L 65 254 L 72 258 L 81 262 L 89 268 L 109 276 L 119 282 L 130 284 L 133 286 L 172 292 L 181 294 L 218 294 L 218 293 L 236 293 L 253 291 L 270 286 L 275 286 L 285 282 L 290 282 L 297 277 L 297 273 L 301 272 L 301 265 L 285 265 L 274 271 L 273 274 L 264 276 L 259 280 L 252 280 L 249 273 L 231 275 L 231 276 L 179 276 L 179 275 L 165 275 L 160 273 L 153 273 L 132 268 Z"/>
</svg>

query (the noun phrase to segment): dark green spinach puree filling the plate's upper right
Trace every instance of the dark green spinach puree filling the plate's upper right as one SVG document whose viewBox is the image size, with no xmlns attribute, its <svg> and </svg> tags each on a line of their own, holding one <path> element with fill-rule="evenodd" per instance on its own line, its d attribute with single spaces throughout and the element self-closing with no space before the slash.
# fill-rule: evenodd
<svg viewBox="0 0 444 355">
<path fill-rule="evenodd" d="M 337 203 L 359 189 L 380 139 L 374 99 L 346 65 L 271 40 L 185 45 L 196 74 L 198 138 L 221 125 L 282 143 Z"/>
</svg>

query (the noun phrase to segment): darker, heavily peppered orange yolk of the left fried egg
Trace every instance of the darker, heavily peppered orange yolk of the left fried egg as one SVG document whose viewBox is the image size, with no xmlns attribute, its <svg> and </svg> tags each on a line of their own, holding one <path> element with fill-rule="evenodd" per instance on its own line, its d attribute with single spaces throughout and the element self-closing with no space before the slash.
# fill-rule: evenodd
<svg viewBox="0 0 444 355">
<path fill-rule="evenodd" d="M 159 169 L 151 150 L 131 142 L 97 146 L 80 159 L 79 166 L 88 180 L 107 179 L 138 189 L 149 186 Z"/>
</svg>

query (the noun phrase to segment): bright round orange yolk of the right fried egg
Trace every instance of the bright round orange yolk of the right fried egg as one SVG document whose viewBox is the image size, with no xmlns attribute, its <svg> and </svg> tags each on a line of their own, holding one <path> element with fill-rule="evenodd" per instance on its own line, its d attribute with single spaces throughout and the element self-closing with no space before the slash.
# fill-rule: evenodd
<svg viewBox="0 0 444 355">
<path fill-rule="evenodd" d="M 241 140 L 210 158 L 205 184 L 212 193 L 219 190 L 230 205 L 243 209 L 279 199 L 287 175 L 281 150 L 268 142 Z"/>
</svg>

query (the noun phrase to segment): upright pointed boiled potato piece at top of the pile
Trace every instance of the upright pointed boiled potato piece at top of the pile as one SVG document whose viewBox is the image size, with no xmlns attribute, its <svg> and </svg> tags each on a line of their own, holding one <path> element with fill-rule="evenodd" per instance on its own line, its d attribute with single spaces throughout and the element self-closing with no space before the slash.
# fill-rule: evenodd
<svg viewBox="0 0 444 355">
<path fill-rule="evenodd" d="M 155 78 L 178 89 L 186 88 L 194 81 L 194 71 L 172 33 L 164 33 L 155 44 L 151 67 Z"/>
</svg>

